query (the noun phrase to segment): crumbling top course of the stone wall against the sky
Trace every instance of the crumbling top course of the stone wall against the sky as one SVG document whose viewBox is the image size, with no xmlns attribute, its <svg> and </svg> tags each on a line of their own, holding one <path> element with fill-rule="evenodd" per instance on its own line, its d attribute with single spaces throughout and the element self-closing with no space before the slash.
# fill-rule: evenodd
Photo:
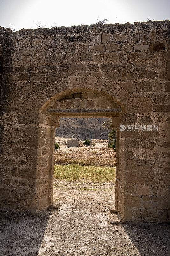
<svg viewBox="0 0 170 256">
<path fill-rule="evenodd" d="M 93 24 L 93 25 L 81 25 L 81 26 L 70 26 L 70 27 L 53 27 L 53 28 L 36 28 L 36 29 L 20 29 L 19 31 L 12 32 L 9 28 L 0 27 L 0 31 L 6 33 L 6 36 L 17 37 L 29 37 L 29 36 L 52 36 L 52 35 L 80 35 L 80 34 L 103 34 L 103 33 L 127 33 L 133 31 L 146 31 L 152 29 L 170 29 L 170 21 L 144 21 L 129 22 L 125 24 Z"/>
</svg>

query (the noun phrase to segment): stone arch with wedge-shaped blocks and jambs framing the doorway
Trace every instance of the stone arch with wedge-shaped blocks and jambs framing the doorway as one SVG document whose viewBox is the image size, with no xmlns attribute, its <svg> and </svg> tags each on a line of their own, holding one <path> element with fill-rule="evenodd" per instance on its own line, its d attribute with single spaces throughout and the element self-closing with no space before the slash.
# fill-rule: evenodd
<svg viewBox="0 0 170 256">
<path fill-rule="evenodd" d="M 125 91 L 122 87 L 118 86 L 116 83 L 103 78 L 96 77 L 83 77 L 83 76 L 70 76 L 61 79 L 53 84 L 48 85 L 42 92 L 36 95 L 35 99 L 42 106 L 39 109 L 39 127 L 41 127 L 41 135 L 37 139 L 37 150 L 41 148 L 42 136 L 45 138 L 44 152 L 45 155 L 42 157 L 37 157 L 36 171 L 41 171 L 43 177 L 41 179 L 46 180 L 45 191 L 40 192 L 39 195 L 39 209 L 36 211 L 45 209 L 49 205 L 53 204 L 53 166 L 54 166 L 54 138 L 55 138 L 55 127 L 58 127 L 56 121 L 51 121 L 51 116 L 47 113 L 48 106 L 56 100 L 60 100 L 63 97 L 69 95 L 70 92 L 77 92 L 77 90 L 86 90 L 88 92 L 98 92 L 104 97 L 114 101 L 118 106 L 120 106 L 119 113 L 109 114 L 114 120 L 113 127 L 119 128 L 120 122 L 120 112 L 125 113 L 124 104 L 131 98 L 130 94 Z M 110 116 L 110 117 L 111 117 Z M 52 117 L 53 118 L 53 117 Z M 113 119 L 114 118 L 114 119 Z M 50 121 L 49 121 L 50 119 Z M 54 116 L 56 120 L 56 116 Z M 58 119 L 59 120 L 59 119 Z M 115 125 L 115 126 L 114 126 Z M 43 135 L 43 131 L 44 134 Z M 115 209 L 122 219 L 124 219 L 124 195 L 122 194 L 124 186 L 124 175 L 119 172 L 119 129 L 117 129 L 117 166 L 116 166 L 116 193 L 115 193 Z M 47 142 L 46 142 L 47 141 Z M 44 142 L 44 139 L 43 139 Z M 123 147 L 122 147 L 123 149 Z M 121 158 L 123 155 L 120 154 Z M 41 160 L 42 159 L 42 160 Z M 47 163 L 45 167 L 43 164 Z M 45 178 L 46 177 L 46 178 Z M 130 217 L 131 218 L 131 217 Z"/>
</svg>

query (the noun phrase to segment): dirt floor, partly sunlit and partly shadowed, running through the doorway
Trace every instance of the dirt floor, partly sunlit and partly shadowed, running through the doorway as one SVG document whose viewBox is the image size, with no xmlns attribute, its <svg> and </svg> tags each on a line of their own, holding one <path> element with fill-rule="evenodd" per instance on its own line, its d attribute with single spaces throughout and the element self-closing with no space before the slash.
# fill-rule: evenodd
<svg viewBox="0 0 170 256">
<path fill-rule="evenodd" d="M 57 211 L 0 212 L 2 256 L 168 256 L 167 223 L 109 224 L 114 183 L 54 181 Z"/>
</svg>

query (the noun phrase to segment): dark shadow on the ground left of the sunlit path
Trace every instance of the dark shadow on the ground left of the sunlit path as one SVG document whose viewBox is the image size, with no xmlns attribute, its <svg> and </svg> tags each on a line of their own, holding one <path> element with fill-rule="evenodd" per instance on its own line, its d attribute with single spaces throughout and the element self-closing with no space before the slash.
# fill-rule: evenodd
<svg viewBox="0 0 170 256">
<path fill-rule="evenodd" d="M 42 246 L 49 215 L 35 217 L 0 211 L 0 255 L 37 256 Z"/>
</svg>

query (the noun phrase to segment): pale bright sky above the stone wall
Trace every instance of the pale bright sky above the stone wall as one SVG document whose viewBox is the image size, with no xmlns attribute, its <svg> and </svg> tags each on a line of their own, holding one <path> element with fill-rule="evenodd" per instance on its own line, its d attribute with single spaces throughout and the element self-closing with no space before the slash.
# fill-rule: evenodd
<svg viewBox="0 0 170 256">
<path fill-rule="evenodd" d="M 170 0 L 0 0 L 0 26 L 36 28 L 170 20 Z"/>
</svg>

